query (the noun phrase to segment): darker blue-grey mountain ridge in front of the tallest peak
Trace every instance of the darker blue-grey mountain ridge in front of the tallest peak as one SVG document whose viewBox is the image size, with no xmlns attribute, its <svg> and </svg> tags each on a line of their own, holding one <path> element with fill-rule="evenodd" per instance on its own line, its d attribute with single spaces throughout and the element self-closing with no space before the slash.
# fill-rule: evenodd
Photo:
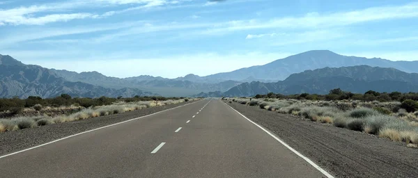
<svg viewBox="0 0 418 178">
<path fill-rule="evenodd" d="M 253 81 L 242 83 L 230 90 L 214 96 L 212 93 L 201 93 L 199 97 L 249 97 L 268 92 L 284 95 L 303 92 L 327 94 L 334 88 L 364 93 L 368 90 L 378 92 L 418 92 L 418 74 L 407 73 L 394 68 L 357 65 L 351 67 L 325 67 L 317 70 L 306 70 L 291 74 L 284 81 L 263 83 Z"/>
</svg>

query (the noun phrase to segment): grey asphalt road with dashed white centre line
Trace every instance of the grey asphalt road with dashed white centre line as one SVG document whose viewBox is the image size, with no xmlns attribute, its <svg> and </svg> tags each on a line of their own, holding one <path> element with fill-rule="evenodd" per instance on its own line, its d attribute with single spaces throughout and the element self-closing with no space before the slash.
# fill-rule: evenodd
<svg viewBox="0 0 418 178">
<path fill-rule="evenodd" d="M 326 177 L 309 161 L 203 100 L 0 156 L 0 177 Z"/>
</svg>

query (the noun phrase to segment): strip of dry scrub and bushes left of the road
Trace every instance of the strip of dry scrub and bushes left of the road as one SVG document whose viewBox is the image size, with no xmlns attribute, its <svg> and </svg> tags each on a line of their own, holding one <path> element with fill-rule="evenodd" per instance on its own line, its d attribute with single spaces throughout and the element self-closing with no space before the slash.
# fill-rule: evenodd
<svg viewBox="0 0 418 178">
<path fill-rule="evenodd" d="M 196 99 L 183 97 L 100 97 L 91 99 L 71 98 L 69 95 L 61 95 L 53 99 L 40 97 L 0 99 L 0 108 L 2 109 L 0 111 L 3 115 L 12 115 L 0 119 L 0 133 L 193 100 Z"/>
</svg>

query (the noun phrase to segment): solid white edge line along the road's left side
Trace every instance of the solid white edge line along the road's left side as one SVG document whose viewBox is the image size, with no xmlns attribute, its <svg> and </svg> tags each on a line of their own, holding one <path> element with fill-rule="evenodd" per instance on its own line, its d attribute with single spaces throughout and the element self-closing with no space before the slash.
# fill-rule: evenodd
<svg viewBox="0 0 418 178">
<path fill-rule="evenodd" d="M 197 103 L 197 102 L 193 102 L 193 103 L 189 103 L 189 104 L 195 104 L 195 103 Z M 43 147 L 43 146 L 45 146 L 45 145 L 49 145 L 49 144 L 51 144 L 51 143 L 56 143 L 56 142 L 58 142 L 58 141 L 60 141 L 60 140 L 65 140 L 65 139 L 67 139 L 67 138 L 72 138 L 72 137 L 75 137 L 75 136 L 79 136 L 79 135 L 84 134 L 84 133 L 88 133 L 88 132 L 91 132 L 91 131 L 97 131 L 97 130 L 104 129 L 104 128 L 107 128 L 107 127 L 112 127 L 112 126 L 115 126 L 115 125 L 118 125 L 118 124 L 123 124 L 123 123 L 125 123 L 125 122 L 131 122 L 132 120 L 139 120 L 139 119 L 141 119 L 141 118 L 146 118 L 146 117 L 151 116 L 151 115 L 156 115 L 156 114 L 158 114 L 158 113 L 162 113 L 162 112 L 164 112 L 164 111 L 170 111 L 170 110 L 175 109 L 175 108 L 180 108 L 180 107 L 183 107 L 183 106 L 187 106 L 187 105 L 189 105 L 189 104 L 185 104 L 185 105 L 182 105 L 182 106 L 177 106 L 177 107 L 174 107 L 174 108 L 169 108 L 169 109 L 166 109 L 166 110 L 163 110 L 163 111 L 158 111 L 157 113 L 152 113 L 152 114 L 149 114 L 149 115 L 144 115 L 144 116 L 141 116 L 141 117 L 139 117 L 139 118 L 133 118 L 133 119 L 130 119 L 130 120 L 125 120 L 125 121 L 123 121 L 123 122 L 118 122 L 118 123 L 115 123 L 115 124 L 110 124 L 110 125 L 107 125 L 107 126 L 104 126 L 104 127 L 99 127 L 99 128 L 96 128 L 96 129 L 91 129 L 91 130 L 89 130 L 89 131 L 83 131 L 83 132 L 81 132 L 81 133 L 76 133 L 76 134 L 74 134 L 74 135 L 72 135 L 72 136 L 66 136 L 66 137 L 64 137 L 64 138 L 59 138 L 59 139 L 54 140 L 54 141 L 51 141 L 51 142 L 49 142 L 49 143 L 44 143 L 44 144 L 42 144 L 42 145 L 38 145 L 38 146 L 35 146 L 35 147 L 30 147 L 30 148 L 27 148 L 27 149 L 20 150 L 20 151 L 18 151 L 18 152 L 13 152 L 13 153 L 10 153 L 10 154 L 6 154 L 6 155 L 3 155 L 3 156 L 0 156 L 0 159 L 2 159 L 2 158 L 4 158 L 4 157 L 7 157 L 7 156 L 12 156 L 13 154 L 18 154 L 18 153 L 21 153 L 21 152 L 26 152 L 26 151 L 29 151 L 29 150 L 31 150 L 31 149 L 35 149 L 35 148 L 37 148 L 37 147 Z"/>
</svg>

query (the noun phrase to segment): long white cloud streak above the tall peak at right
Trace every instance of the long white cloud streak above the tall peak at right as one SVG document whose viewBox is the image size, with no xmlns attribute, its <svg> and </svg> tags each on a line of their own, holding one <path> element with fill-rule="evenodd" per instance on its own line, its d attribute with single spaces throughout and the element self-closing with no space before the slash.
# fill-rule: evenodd
<svg viewBox="0 0 418 178">
<path fill-rule="evenodd" d="M 220 23 L 203 34 L 229 33 L 233 31 L 254 29 L 325 29 L 334 26 L 347 26 L 363 22 L 373 22 L 387 19 L 403 19 L 418 17 L 418 3 L 408 3 L 403 6 L 383 6 L 353 10 L 348 12 L 320 14 L 307 13 L 302 17 L 279 17 L 270 20 L 237 20 Z"/>
</svg>

